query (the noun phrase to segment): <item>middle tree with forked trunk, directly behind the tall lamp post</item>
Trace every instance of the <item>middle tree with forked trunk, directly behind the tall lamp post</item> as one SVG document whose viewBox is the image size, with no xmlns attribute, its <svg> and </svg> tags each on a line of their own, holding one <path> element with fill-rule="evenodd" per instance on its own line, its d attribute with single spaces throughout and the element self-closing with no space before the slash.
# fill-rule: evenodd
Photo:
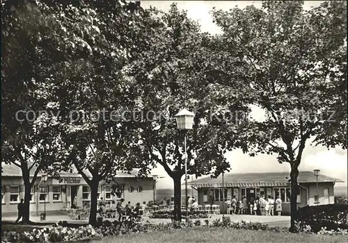
<svg viewBox="0 0 348 243">
<path fill-rule="evenodd" d="M 142 130 L 144 159 L 163 166 L 173 178 L 174 219 L 181 220 L 184 133 L 177 131 L 174 115 L 182 108 L 196 113 L 193 130 L 187 132 L 188 174 L 217 176 L 229 167 L 224 157 L 226 137 L 237 127 L 226 114 L 242 109 L 243 103 L 235 97 L 221 100 L 219 88 L 209 86 L 203 62 L 209 62 L 209 53 L 203 47 L 210 37 L 200 33 L 200 26 L 186 12 L 174 3 L 168 13 L 150 11 L 153 20 L 145 23 L 145 41 L 139 43 L 139 54 L 127 75 L 134 77 L 141 91 L 135 117 Z"/>
</svg>

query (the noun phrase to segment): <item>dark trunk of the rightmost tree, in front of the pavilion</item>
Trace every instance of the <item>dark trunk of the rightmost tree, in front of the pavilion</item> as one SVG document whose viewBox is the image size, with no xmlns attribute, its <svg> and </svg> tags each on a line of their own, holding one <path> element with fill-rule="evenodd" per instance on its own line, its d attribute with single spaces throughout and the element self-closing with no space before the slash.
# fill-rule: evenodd
<svg viewBox="0 0 348 243">
<path fill-rule="evenodd" d="M 297 185 L 297 177 L 299 176 L 299 168 L 296 165 L 292 165 L 290 178 L 291 178 L 291 196 L 290 196 L 290 232 L 296 233 L 297 229 L 295 221 L 297 219 L 297 192 L 299 190 Z"/>
</svg>

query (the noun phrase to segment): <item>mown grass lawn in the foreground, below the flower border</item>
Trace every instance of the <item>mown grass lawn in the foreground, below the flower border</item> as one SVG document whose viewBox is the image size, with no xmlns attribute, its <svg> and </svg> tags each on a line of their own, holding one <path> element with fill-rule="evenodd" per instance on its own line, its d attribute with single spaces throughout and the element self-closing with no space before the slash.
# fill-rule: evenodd
<svg viewBox="0 0 348 243">
<path fill-rule="evenodd" d="M 185 228 L 173 231 L 139 233 L 105 237 L 89 243 L 112 242 L 347 242 L 347 235 L 307 235 L 292 233 L 275 233 L 271 231 L 246 231 L 232 228 Z"/>
</svg>

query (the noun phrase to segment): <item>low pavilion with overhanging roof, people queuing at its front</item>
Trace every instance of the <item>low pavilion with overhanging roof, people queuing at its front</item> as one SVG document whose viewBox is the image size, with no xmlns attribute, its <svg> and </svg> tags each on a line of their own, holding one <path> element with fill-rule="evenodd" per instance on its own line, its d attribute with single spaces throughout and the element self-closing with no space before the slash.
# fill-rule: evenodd
<svg viewBox="0 0 348 243">
<path fill-rule="evenodd" d="M 224 174 L 218 178 L 200 178 L 188 183 L 194 189 L 198 190 L 198 204 L 206 205 L 214 203 L 224 208 L 223 196 L 225 201 L 228 198 L 236 196 L 237 200 L 242 200 L 246 196 L 248 201 L 256 196 L 273 196 L 274 199 L 280 196 L 283 201 L 283 214 L 290 214 L 290 194 L 291 185 L 288 173 L 253 173 L 253 174 Z M 336 178 L 320 175 L 318 183 L 312 171 L 300 171 L 298 177 L 299 194 L 297 195 L 297 206 L 317 205 L 315 195 L 319 194 L 319 205 L 333 204 L 334 194 L 333 185 L 337 182 L 343 182 Z M 224 185 L 224 188 L 223 188 Z M 318 190 L 317 190 L 318 185 Z M 223 195 L 223 190 L 224 194 Z M 226 205 L 226 204 L 225 204 Z"/>
</svg>

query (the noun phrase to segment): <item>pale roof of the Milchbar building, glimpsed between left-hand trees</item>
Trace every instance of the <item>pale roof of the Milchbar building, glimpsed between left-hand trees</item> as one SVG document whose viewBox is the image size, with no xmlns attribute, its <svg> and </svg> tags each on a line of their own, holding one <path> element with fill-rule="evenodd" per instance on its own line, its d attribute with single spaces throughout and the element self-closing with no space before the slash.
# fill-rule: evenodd
<svg viewBox="0 0 348 243">
<path fill-rule="evenodd" d="M 19 169 L 19 167 L 17 167 L 16 165 L 13 164 L 5 164 L 5 163 L 1 163 L 1 177 L 3 176 L 19 176 L 22 177 L 22 171 L 21 169 Z M 30 175 L 33 176 L 34 174 L 34 169 L 31 169 L 30 171 Z M 89 171 L 84 170 L 84 172 L 86 173 L 87 176 L 91 176 Z M 125 172 L 121 172 L 121 171 L 117 171 L 116 173 L 116 177 L 135 177 L 138 174 L 138 170 L 133 169 L 132 171 L 129 172 L 129 174 L 125 173 Z M 38 174 L 38 176 L 40 176 L 41 173 Z M 77 172 L 75 173 L 70 173 L 70 172 L 65 172 L 62 171 L 60 173 L 61 177 L 81 177 L 80 174 L 78 174 Z M 151 175 L 149 175 L 150 177 L 152 177 Z"/>
</svg>

